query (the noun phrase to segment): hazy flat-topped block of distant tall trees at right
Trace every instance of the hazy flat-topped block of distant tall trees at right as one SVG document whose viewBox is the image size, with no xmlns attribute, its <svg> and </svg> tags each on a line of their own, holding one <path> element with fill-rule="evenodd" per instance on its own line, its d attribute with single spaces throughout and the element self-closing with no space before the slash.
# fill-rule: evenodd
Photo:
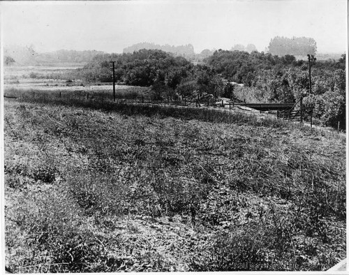
<svg viewBox="0 0 349 275">
<path fill-rule="evenodd" d="M 313 38 L 276 36 L 269 43 L 269 53 L 282 57 L 286 54 L 306 56 L 316 54 L 316 42 Z"/>
</svg>

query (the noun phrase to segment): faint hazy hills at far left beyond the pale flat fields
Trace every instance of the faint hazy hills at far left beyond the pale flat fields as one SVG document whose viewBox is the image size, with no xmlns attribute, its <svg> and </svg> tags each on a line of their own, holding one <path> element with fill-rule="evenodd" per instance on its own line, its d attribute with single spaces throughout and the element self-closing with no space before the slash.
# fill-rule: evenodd
<svg viewBox="0 0 349 275">
<path fill-rule="evenodd" d="M 96 50 L 57 50 L 54 52 L 38 53 L 33 46 L 4 47 L 3 55 L 15 60 L 16 65 L 52 66 L 59 64 L 87 64 L 97 54 L 104 54 Z"/>
</svg>

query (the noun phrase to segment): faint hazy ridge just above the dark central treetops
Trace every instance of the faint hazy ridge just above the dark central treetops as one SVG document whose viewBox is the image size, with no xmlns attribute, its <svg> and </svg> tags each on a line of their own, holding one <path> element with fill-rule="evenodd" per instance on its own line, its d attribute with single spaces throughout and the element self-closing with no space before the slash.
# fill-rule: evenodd
<svg viewBox="0 0 349 275">
<path fill-rule="evenodd" d="M 133 53 L 137 52 L 138 50 L 163 50 L 164 52 L 171 52 L 172 54 L 176 56 L 181 57 L 193 57 L 195 55 L 194 47 L 191 44 L 188 45 L 179 45 L 179 46 L 171 46 L 171 45 L 157 45 L 154 43 L 138 43 L 135 45 L 132 45 L 130 47 L 124 48 L 124 53 Z"/>
</svg>

